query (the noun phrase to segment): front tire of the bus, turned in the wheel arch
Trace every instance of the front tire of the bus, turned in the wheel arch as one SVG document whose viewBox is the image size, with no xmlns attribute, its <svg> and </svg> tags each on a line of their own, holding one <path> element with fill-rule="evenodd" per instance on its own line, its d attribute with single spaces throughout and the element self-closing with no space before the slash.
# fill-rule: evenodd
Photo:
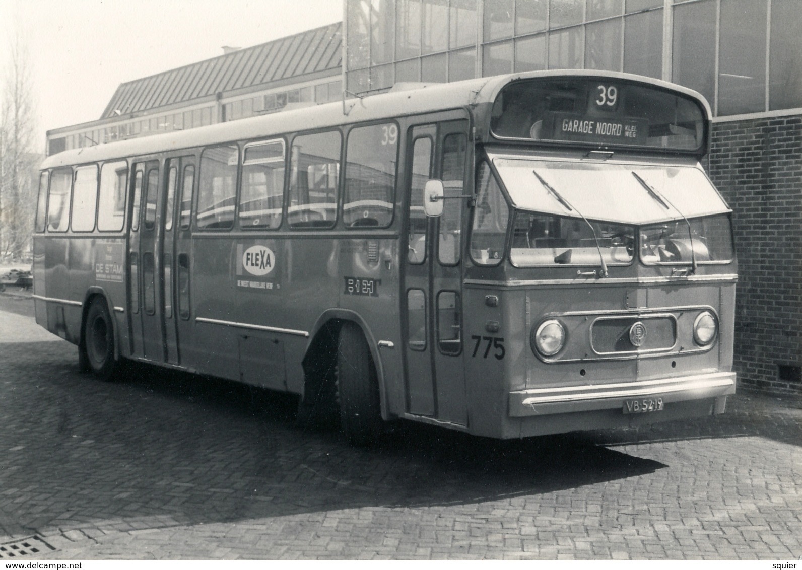
<svg viewBox="0 0 802 570">
<path fill-rule="evenodd" d="M 379 380 L 362 330 L 346 322 L 337 346 L 340 426 L 354 447 L 376 443 L 382 433 Z"/>
</svg>

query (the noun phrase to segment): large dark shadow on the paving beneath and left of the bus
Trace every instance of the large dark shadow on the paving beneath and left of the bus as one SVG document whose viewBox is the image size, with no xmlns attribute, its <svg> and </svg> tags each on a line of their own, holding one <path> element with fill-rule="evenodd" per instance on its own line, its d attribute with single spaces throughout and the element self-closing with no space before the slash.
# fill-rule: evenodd
<svg viewBox="0 0 802 570">
<path fill-rule="evenodd" d="M 498 441 L 404 422 L 379 446 L 353 449 L 336 431 L 299 427 L 286 394 L 139 364 L 98 382 L 58 342 L 3 345 L 0 359 L 19 384 L 0 398 L 15 450 L 0 456 L 6 529 L 548 503 L 565 495 L 549 495 L 557 491 L 666 467 L 605 447 L 607 432 Z"/>
</svg>

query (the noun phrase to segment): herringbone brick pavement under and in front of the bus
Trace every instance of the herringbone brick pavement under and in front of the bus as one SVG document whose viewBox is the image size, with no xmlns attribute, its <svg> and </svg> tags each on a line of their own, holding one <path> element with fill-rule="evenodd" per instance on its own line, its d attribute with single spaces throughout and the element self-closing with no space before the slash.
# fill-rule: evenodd
<svg viewBox="0 0 802 570">
<path fill-rule="evenodd" d="M 354 450 L 248 386 L 97 382 L 30 315 L 0 295 L 0 546 L 38 548 L 17 560 L 802 556 L 798 400 L 515 442 L 411 425 Z"/>
</svg>

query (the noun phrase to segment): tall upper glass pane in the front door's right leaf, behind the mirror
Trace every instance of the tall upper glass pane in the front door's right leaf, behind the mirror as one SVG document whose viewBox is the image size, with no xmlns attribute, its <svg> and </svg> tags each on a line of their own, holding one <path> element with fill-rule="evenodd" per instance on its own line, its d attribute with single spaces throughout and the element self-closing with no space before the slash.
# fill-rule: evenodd
<svg viewBox="0 0 802 570">
<path fill-rule="evenodd" d="M 462 196 L 467 144 L 463 133 L 447 135 L 443 140 L 443 185 L 447 197 Z M 444 200 L 437 248 L 437 257 L 443 265 L 460 262 L 463 204 L 464 200 Z"/>
</svg>

